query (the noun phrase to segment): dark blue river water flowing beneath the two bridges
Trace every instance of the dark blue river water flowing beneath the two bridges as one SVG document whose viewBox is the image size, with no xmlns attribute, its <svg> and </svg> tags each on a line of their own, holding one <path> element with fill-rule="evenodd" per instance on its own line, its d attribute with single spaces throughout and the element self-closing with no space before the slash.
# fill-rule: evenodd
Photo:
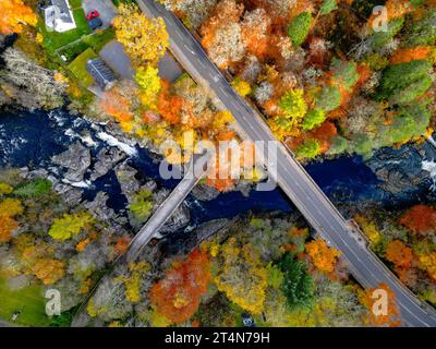
<svg viewBox="0 0 436 349">
<path fill-rule="evenodd" d="M 105 130 L 104 127 L 98 127 Z M 66 134 L 65 134 L 66 132 Z M 90 122 L 72 117 L 65 111 L 10 111 L 0 113 L 0 167 L 12 166 L 47 168 L 50 157 L 65 151 L 83 133 L 90 135 L 94 146 L 92 155 L 108 146 L 96 136 Z M 177 180 L 162 180 L 159 176 L 158 161 L 147 151 L 136 146 L 137 155 L 130 158 L 130 165 L 138 170 L 141 179 L 154 179 L 158 185 L 172 189 Z M 391 197 L 380 190 L 377 178 L 360 157 L 341 157 L 335 160 L 313 163 L 306 167 L 324 192 L 335 204 L 359 203 L 363 201 L 384 202 L 401 200 Z M 86 200 L 92 200 L 98 191 L 109 194 L 108 205 L 116 209 L 125 207 L 125 197 L 113 171 L 98 179 L 85 190 Z M 239 214 L 264 210 L 291 212 L 292 203 L 276 189 L 270 192 L 252 191 L 249 197 L 240 192 L 219 195 L 210 202 L 187 198 L 192 225 L 215 218 L 234 217 Z"/>
</svg>

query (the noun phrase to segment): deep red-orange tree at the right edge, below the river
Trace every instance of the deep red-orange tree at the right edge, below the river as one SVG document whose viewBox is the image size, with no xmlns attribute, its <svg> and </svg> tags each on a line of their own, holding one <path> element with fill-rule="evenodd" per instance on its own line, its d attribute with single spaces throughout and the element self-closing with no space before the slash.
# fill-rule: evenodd
<svg viewBox="0 0 436 349">
<path fill-rule="evenodd" d="M 400 218 L 400 224 L 413 233 L 426 236 L 436 229 L 436 209 L 426 205 L 415 205 Z"/>
</svg>

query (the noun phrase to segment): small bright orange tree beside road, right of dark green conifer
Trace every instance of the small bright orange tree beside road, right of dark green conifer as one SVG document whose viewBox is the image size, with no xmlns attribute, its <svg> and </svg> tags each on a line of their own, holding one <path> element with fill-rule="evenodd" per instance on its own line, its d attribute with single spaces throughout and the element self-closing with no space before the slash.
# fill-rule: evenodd
<svg viewBox="0 0 436 349">
<path fill-rule="evenodd" d="M 329 248 L 324 240 L 314 240 L 305 244 L 306 252 L 310 255 L 315 267 L 323 273 L 332 273 L 340 252 Z"/>
</svg>

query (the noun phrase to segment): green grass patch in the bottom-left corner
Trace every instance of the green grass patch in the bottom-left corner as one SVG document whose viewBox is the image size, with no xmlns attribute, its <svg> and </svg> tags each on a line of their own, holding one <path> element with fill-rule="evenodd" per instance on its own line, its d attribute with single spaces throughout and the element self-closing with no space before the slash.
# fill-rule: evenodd
<svg viewBox="0 0 436 349">
<path fill-rule="evenodd" d="M 20 311 L 15 324 L 24 326 L 48 326 L 50 318 L 46 314 L 46 299 L 40 286 L 29 286 L 11 291 L 7 280 L 0 277 L 0 318 L 10 322 Z"/>
</svg>

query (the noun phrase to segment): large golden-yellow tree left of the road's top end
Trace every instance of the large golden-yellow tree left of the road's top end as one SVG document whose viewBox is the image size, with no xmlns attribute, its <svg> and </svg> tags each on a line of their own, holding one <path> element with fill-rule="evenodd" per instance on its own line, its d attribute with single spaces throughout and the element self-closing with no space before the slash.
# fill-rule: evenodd
<svg viewBox="0 0 436 349">
<path fill-rule="evenodd" d="M 120 4 L 113 20 L 117 39 L 136 67 L 155 65 L 169 45 L 162 19 L 147 19 L 134 4 Z"/>
</svg>

